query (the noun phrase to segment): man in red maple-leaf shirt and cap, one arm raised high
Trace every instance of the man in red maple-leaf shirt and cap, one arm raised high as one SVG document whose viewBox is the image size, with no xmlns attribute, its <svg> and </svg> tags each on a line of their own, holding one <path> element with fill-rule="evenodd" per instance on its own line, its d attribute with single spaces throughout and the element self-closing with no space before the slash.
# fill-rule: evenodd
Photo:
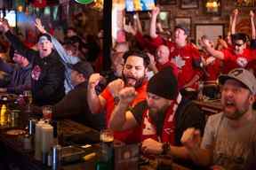
<svg viewBox="0 0 256 170">
<path fill-rule="evenodd" d="M 170 59 L 173 64 L 178 67 L 178 83 L 180 89 L 197 89 L 198 80 L 202 75 L 200 70 L 200 55 L 199 51 L 187 42 L 189 35 L 188 27 L 178 25 L 174 31 L 174 42 L 166 41 L 156 34 L 156 18 L 160 12 L 156 7 L 152 11 L 152 18 L 150 23 L 150 36 L 154 44 L 158 46 L 165 44 L 170 49 Z"/>
</svg>

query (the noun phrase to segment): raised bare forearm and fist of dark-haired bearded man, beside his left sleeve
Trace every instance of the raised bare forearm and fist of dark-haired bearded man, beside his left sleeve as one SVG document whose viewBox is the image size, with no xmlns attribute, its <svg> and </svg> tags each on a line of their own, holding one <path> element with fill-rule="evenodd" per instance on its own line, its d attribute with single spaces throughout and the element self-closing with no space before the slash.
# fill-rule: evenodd
<svg viewBox="0 0 256 170">
<path fill-rule="evenodd" d="M 106 100 L 100 95 L 98 96 L 95 89 L 101 79 L 100 73 L 92 73 L 88 81 L 87 102 L 92 113 L 100 113 L 106 104 Z"/>
</svg>

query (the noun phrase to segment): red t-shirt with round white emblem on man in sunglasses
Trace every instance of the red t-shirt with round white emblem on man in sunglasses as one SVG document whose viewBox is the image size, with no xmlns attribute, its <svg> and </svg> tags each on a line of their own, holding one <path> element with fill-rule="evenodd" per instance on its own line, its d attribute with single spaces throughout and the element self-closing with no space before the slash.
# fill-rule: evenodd
<svg viewBox="0 0 256 170">
<path fill-rule="evenodd" d="M 237 67 L 245 68 L 256 58 L 256 50 L 245 49 L 243 54 L 235 54 L 231 49 L 222 50 L 222 52 L 224 54 L 223 73 L 228 73 Z"/>
</svg>

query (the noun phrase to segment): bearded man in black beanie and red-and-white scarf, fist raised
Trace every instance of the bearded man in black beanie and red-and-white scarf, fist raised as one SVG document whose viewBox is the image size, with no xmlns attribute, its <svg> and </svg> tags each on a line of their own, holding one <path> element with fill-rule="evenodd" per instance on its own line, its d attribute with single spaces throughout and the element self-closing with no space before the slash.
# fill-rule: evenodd
<svg viewBox="0 0 256 170">
<path fill-rule="evenodd" d="M 112 113 L 109 127 L 123 131 L 140 128 L 141 149 L 146 154 L 182 154 L 182 133 L 191 127 L 204 129 L 204 113 L 185 97 L 181 97 L 178 81 L 171 67 L 156 73 L 149 81 L 147 99 L 129 109 L 137 93 L 133 87 L 119 92 L 120 101 Z"/>
</svg>

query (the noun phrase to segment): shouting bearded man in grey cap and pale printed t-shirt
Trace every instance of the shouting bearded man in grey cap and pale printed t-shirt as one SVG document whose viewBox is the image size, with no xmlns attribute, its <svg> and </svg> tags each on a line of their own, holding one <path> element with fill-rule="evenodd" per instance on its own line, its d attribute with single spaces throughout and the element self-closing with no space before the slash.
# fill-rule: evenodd
<svg viewBox="0 0 256 170">
<path fill-rule="evenodd" d="M 188 128 L 181 142 L 199 165 L 216 169 L 255 169 L 256 112 L 252 103 L 256 79 L 244 68 L 220 75 L 223 112 L 209 117 L 200 144 L 199 132 Z M 254 164 L 254 165 L 253 165 Z"/>
</svg>

